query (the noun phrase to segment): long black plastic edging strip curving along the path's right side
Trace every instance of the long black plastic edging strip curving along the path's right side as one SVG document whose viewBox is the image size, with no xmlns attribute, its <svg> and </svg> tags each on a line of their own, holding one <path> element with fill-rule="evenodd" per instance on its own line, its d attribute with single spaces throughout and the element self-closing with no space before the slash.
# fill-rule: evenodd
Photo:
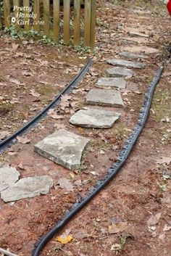
<svg viewBox="0 0 171 256">
<path fill-rule="evenodd" d="M 72 206 L 72 209 L 69 212 L 67 212 L 66 215 L 64 215 L 64 218 L 62 218 L 62 220 L 59 220 L 57 225 L 54 226 L 54 228 L 51 228 L 51 230 L 45 236 L 43 236 L 40 239 L 40 241 L 37 241 L 37 243 L 35 244 L 35 248 L 33 249 L 32 256 L 38 256 L 41 250 L 43 249 L 43 247 L 45 247 L 45 245 L 48 243 L 48 241 L 55 234 L 57 234 L 57 232 L 61 230 L 67 224 L 67 222 L 73 216 L 75 216 L 75 214 L 78 211 L 80 211 L 88 202 L 90 202 L 91 199 L 93 199 L 93 197 L 95 197 L 96 194 L 98 194 L 99 191 L 101 191 L 101 189 L 103 189 L 104 186 L 106 186 L 107 183 L 109 183 L 109 181 L 111 181 L 112 178 L 116 176 L 118 171 L 122 168 L 122 165 L 125 164 L 131 150 L 133 149 L 135 142 L 138 139 L 138 136 L 140 135 L 146 123 L 147 117 L 149 115 L 152 96 L 154 94 L 154 90 L 157 86 L 157 83 L 159 83 L 163 69 L 164 69 L 163 67 L 160 67 L 159 70 L 157 70 L 157 74 L 155 75 L 153 82 L 150 84 L 149 88 L 146 91 L 143 107 L 141 108 L 140 115 L 138 117 L 138 123 L 135 126 L 133 132 L 128 137 L 125 145 L 122 147 L 122 150 L 119 154 L 119 159 L 117 160 L 117 162 L 114 162 L 112 164 L 112 166 L 109 168 L 107 176 L 104 178 L 103 181 L 98 181 L 96 183 L 96 186 L 93 187 L 90 194 L 88 194 L 85 198 L 81 199 L 80 202 L 75 203 Z"/>
</svg>

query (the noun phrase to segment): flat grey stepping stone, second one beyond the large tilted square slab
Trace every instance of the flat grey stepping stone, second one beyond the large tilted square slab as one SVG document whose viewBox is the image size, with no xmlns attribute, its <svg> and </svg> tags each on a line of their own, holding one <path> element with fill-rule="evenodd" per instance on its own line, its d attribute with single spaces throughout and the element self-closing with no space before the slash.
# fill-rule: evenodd
<svg viewBox="0 0 171 256">
<path fill-rule="evenodd" d="M 123 106 L 120 91 L 105 89 L 91 89 L 91 91 L 86 95 L 86 103 L 113 107 Z"/>
</svg>

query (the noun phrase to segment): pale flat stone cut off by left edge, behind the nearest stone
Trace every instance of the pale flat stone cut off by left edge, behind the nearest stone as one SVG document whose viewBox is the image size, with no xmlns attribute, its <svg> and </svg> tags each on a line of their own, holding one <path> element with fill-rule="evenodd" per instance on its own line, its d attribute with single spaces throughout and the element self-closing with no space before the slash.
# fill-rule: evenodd
<svg viewBox="0 0 171 256">
<path fill-rule="evenodd" d="M 13 167 L 0 168 L 0 191 L 12 186 L 19 176 L 20 173 Z"/>
</svg>

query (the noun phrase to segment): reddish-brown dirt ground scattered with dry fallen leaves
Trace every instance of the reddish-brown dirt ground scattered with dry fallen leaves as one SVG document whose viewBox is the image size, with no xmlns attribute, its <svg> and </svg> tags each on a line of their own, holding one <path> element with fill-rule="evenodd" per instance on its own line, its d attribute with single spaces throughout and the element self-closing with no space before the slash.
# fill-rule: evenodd
<svg viewBox="0 0 171 256">
<path fill-rule="evenodd" d="M 54 179 L 54 188 L 46 196 L 6 204 L 0 200 L 0 247 L 20 256 L 31 255 L 38 237 L 46 234 L 75 201 L 104 177 L 137 122 L 144 92 L 157 68 L 166 65 L 149 120 L 126 165 L 57 234 L 70 234 L 72 241 L 62 244 L 56 236 L 41 255 L 171 255 L 171 65 L 166 50 L 171 38 L 170 18 L 159 3 L 100 1 L 98 4 L 96 55 L 90 72 L 54 113 L 25 135 L 27 144 L 17 143 L 0 156 L 0 164 L 16 167 L 20 177 L 48 173 Z M 128 36 L 127 27 L 144 28 L 151 34 L 149 41 L 143 44 L 125 41 L 122 38 Z M 138 45 L 157 48 L 159 54 L 151 54 L 146 60 L 148 67 L 136 70 L 135 77 L 122 91 L 125 107 L 116 109 L 122 116 L 114 127 L 99 131 L 69 125 L 70 116 L 86 106 L 87 91 L 97 78 L 106 75 L 105 69 L 109 67 L 106 59 L 116 57 L 125 46 Z M 2 131 L 8 134 L 53 99 L 86 59 L 67 47 L 24 45 L 8 36 L 1 36 L 0 46 L 0 134 L 4 134 Z M 131 82 L 136 88 L 131 87 Z M 80 170 L 66 170 L 33 151 L 34 144 L 59 128 L 91 139 Z M 59 178 L 67 178 L 72 189 L 63 189 Z"/>
</svg>

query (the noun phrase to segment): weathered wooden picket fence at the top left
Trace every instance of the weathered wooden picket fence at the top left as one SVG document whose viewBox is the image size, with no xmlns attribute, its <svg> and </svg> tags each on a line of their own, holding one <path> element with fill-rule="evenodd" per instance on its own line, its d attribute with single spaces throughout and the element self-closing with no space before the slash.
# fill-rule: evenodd
<svg viewBox="0 0 171 256">
<path fill-rule="evenodd" d="M 4 0 L 0 15 L 2 25 L 14 25 L 17 30 L 41 31 L 44 35 L 64 44 L 79 45 L 83 37 L 84 45 L 94 47 L 96 25 L 96 0 Z M 72 4 L 72 7 L 71 7 Z M 84 9 L 81 9 L 81 4 Z"/>
</svg>

